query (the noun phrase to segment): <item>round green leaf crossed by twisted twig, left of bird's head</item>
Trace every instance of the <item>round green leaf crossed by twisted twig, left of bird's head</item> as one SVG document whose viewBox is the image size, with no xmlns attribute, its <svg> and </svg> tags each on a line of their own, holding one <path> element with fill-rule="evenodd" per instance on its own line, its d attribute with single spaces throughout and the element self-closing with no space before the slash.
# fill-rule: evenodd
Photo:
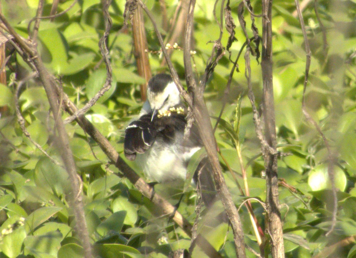
<svg viewBox="0 0 356 258">
<path fill-rule="evenodd" d="M 106 80 L 106 70 L 98 69 L 95 70 L 92 74 L 90 74 L 89 79 L 87 81 L 87 86 L 85 88 L 85 92 L 87 93 L 88 99 L 92 99 L 96 93 L 99 92 L 101 88 L 103 88 Z M 103 96 L 101 96 L 98 100 L 98 103 L 103 103 L 105 100 L 109 99 L 111 95 L 115 92 L 116 89 L 116 79 L 115 76 L 112 78 L 111 88 L 105 92 Z"/>
</svg>

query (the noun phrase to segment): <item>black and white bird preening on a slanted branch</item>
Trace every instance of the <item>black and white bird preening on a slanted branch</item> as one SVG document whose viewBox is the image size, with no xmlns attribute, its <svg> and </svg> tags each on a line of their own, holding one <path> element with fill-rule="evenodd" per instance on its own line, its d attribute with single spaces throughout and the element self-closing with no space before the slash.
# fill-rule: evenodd
<svg viewBox="0 0 356 258">
<path fill-rule="evenodd" d="M 157 74 L 148 82 L 147 101 L 139 118 L 125 130 L 124 153 L 136 159 L 148 179 L 163 183 L 185 180 L 193 154 L 202 147 L 197 127 L 184 137 L 187 109 L 181 101 L 176 84 L 168 74 Z M 204 158 L 194 174 L 206 206 L 214 202 L 216 191 Z M 198 173 L 200 171 L 200 173 Z"/>
</svg>

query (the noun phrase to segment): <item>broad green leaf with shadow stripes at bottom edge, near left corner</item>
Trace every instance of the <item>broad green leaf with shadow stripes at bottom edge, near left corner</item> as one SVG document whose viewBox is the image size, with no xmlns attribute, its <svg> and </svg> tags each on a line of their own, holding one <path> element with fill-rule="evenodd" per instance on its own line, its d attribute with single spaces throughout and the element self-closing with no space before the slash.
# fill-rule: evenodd
<svg viewBox="0 0 356 258">
<path fill-rule="evenodd" d="M 23 240 L 25 255 L 35 257 L 57 257 L 58 249 L 61 247 L 62 234 L 59 231 L 49 231 L 44 235 L 27 236 Z"/>
</svg>

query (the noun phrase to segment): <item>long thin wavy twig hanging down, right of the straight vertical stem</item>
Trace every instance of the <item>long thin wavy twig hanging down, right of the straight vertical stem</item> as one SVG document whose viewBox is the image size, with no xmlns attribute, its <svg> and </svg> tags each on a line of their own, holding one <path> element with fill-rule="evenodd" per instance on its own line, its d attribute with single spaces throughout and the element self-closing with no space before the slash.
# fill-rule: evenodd
<svg viewBox="0 0 356 258">
<path fill-rule="evenodd" d="M 312 52 L 310 51 L 307 31 L 305 30 L 303 15 L 302 15 L 302 12 L 300 11 L 298 0 L 295 0 L 295 7 L 297 8 L 300 26 L 301 26 L 302 32 L 303 32 L 305 52 L 306 52 L 306 56 L 307 56 L 307 60 L 305 62 L 305 77 L 304 77 L 304 85 L 303 85 L 302 111 L 303 111 L 304 116 L 308 120 L 308 122 L 311 123 L 315 127 L 315 129 L 319 132 L 321 138 L 323 138 L 325 147 L 328 150 L 328 160 L 329 160 L 328 175 L 329 175 L 329 179 L 330 179 L 330 183 L 331 183 L 331 189 L 333 191 L 333 217 L 331 220 L 330 230 L 325 234 L 326 236 L 328 236 L 331 232 L 334 231 L 334 228 L 336 225 L 336 214 L 337 214 L 337 194 L 336 194 L 335 174 L 334 174 L 335 155 L 331 151 L 329 141 L 326 139 L 324 133 L 321 131 L 321 128 L 318 125 L 318 123 L 316 123 L 316 121 L 313 119 L 313 117 L 309 115 L 306 105 L 305 105 L 305 90 L 307 89 L 308 75 L 309 75 L 309 68 L 310 68 Z"/>
</svg>

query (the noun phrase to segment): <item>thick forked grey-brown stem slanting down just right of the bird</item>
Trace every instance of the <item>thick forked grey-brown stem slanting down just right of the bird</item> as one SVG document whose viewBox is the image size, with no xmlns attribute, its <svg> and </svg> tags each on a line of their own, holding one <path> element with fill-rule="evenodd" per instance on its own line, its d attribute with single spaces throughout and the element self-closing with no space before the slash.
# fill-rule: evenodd
<svg viewBox="0 0 356 258">
<path fill-rule="evenodd" d="M 234 243 L 237 257 L 246 257 L 245 253 L 245 243 L 244 243 L 244 233 L 242 231 L 242 224 L 240 220 L 239 213 L 236 209 L 234 202 L 232 201 L 229 190 L 227 189 L 225 179 L 222 174 L 222 169 L 220 166 L 217 146 L 215 137 L 213 134 L 213 127 L 211 126 L 210 116 L 208 109 L 204 101 L 204 90 L 205 84 L 209 75 L 214 71 L 214 67 L 221 58 L 223 53 L 220 40 L 215 42 L 214 48 L 216 48 L 216 55 L 212 54 L 208 64 L 206 65 L 205 73 L 203 79 L 200 81 L 200 84 L 197 85 L 197 82 L 194 79 L 192 62 L 190 60 L 190 50 L 191 50 L 191 38 L 193 30 L 193 17 L 194 17 L 194 7 L 195 0 L 190 1 L 187 26 L 185 28 L 185 41 L 184 41 L 184 68 L 185 68 L 185 79 L 187 81 L 188 91 L 190 96 L 193 99 L 193 116 L 198 126 L 199 135 L 204 144 L 206 153 L 208 154 L 208 159 L 213 171 L 213 177 L 216 184 L 216 190 L 220 195 L 220 199 L 223 202 L 227 216 L 229 217 L 232 230 L 234 232 Z M 220 43 L 220 44 L 219 44 Z M 214 51 L 214 49 L 213 49 Z M 213 60 L 213 57 L 215 59 Z"/>
</svg>

